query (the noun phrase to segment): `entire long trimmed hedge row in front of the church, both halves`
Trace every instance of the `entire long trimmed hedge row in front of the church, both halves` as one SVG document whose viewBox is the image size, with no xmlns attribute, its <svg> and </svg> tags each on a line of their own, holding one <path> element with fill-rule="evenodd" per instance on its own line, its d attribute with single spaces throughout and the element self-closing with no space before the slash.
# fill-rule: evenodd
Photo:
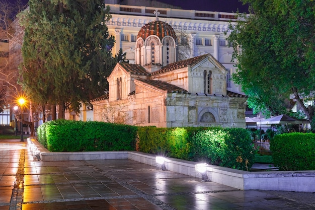
<svg viewBox="0 0 315 210">
<path fill-rule="evenodd" d="M 38 141 L 51 152 L 137 150 L 240 170 L 249 170 L 255 161 L 250 133 L 243 128 L 157 128 L 56 120 L 38 128 Z"/>
</svg>

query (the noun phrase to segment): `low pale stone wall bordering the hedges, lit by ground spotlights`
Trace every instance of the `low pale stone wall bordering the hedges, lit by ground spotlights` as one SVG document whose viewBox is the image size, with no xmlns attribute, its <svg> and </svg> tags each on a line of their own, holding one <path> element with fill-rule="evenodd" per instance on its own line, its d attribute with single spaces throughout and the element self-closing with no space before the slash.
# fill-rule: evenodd
<svg viewBox="0 0 315 210">
<path fill-rule="evenodd" d="M 155 162 L 155 155 L 134 151 L 50 153 L 43 149 L 40 152 L 40 157 L 41 161 L 130 159 L 147 165 L 158 166 Z M 166 170 L 201 179 L 201 174 L 195 170 L 196 164 L 198 163 L 174 158 L 165 160 Z M 241 190 L 315 192 L 315 171 L 247 172 L 208 165 L 206 173 L 212 182 Z"/>
</svg>

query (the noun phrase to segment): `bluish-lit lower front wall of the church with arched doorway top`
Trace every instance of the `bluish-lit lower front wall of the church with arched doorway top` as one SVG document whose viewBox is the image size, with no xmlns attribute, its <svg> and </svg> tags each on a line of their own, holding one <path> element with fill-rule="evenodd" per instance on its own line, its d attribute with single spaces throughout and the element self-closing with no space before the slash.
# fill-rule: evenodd
<svg viewBox="0 0 315 210">
<path fill-rule="evenodd" d="M 182 95 L 173 94 L 166 99 L 167 127 L 246 127 L 246 98 Z"/>
</svg>

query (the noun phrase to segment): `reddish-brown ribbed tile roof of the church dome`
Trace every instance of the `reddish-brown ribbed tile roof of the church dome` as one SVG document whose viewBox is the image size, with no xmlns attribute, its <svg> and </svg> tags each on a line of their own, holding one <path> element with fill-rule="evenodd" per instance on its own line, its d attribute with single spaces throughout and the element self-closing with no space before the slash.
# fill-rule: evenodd
<svg viewBox="0 0 315 210">
<path fill-rule="evenodd" d="M 160 40 L 162 40 L 165 36 L 171 36 L 175 40 L 177 39 L 172 26 L 163 21 L 152 21 L 145 24 L 138 32 L 137 38 L 141 37 L 142 39 L 146 39 L 150 35 L 156 35 L 160 38 Z"/>
</svg>

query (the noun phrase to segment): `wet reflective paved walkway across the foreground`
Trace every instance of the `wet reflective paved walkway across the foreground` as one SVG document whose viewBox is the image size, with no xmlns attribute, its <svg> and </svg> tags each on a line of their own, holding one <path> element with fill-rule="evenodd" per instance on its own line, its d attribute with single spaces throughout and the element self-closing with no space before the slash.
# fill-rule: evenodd
<svg viewBox="0 0 315 210">
<path fill-rule="evenodd" d="M 314 193 L 242 191 L 131 160 L 40 162 L 0 140 L 2 209 L 315 209 Z"/>
</svg>

